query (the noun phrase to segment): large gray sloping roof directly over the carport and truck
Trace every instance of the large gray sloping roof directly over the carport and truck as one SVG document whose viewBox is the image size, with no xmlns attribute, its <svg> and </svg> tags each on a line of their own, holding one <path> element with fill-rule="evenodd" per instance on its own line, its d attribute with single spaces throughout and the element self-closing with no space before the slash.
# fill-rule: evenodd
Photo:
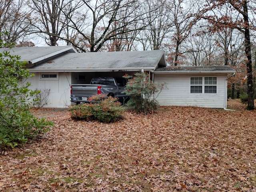
<svg viewBox="0 0 256 192">
<path fill-rule="evenodd" d="M 166 66 L 163 50 L 67 53 L 29 68 L 31 72 L 155 70 Z"/>
</svg>

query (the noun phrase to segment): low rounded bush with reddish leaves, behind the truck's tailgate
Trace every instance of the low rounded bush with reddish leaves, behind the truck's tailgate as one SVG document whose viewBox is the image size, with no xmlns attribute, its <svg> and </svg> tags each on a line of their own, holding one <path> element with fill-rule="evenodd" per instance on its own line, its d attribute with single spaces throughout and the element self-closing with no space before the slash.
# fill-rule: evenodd
<svg viewBox="0 0 256 192">
<path fill-rule="evenodd" d="M 124 109 L 116 98 L 98 95 L 92 96 L 90 100 L 94 103 L 71 106 L 69 108 L 71 117 L 77 120 L 97 120 L 103 123 L 116 122 L 123 118 Z"/>
</svg>

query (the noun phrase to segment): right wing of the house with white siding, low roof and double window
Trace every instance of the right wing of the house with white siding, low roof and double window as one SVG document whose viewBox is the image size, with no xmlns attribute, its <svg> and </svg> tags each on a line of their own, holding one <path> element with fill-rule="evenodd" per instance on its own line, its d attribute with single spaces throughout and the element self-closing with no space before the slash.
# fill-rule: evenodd
<svg viewBox="0 0 256 192">
<path fill-rule="evenodd" d="M 160 105 L 226 108 L 230 66 L 164 67 L 154 71 L 155 82 L 166 82 L 158 96 Z"/>
</svg>

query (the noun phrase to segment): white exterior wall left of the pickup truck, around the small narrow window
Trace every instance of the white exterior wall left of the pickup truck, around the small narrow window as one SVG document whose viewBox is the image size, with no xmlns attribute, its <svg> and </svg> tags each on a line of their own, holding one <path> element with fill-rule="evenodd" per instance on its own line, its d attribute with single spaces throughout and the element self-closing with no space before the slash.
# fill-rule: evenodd
<svg viewBox="0 0 256 192">
<path fill-rule="evenodd" d="M 70 102 L 70 84 L 71 73 L 59 72 L 58 80 L 42 80 L 40 79 L 40 73 L 34 73 L 35 76 L 28 81 L 31 83 L 30 89 L 46 90 L 50 89 L 50 95 L 47 104 L 44 107 L 52 108 L 66 108 Z M 46 74 L 46 73 L 44 73 Z"/>
</svg>

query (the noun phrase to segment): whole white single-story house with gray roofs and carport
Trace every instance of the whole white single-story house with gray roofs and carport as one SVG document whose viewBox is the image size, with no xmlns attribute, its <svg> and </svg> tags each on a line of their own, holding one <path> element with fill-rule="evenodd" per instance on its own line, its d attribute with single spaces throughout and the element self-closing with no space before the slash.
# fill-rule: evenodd
<svg viewBox="0 0 256 192">
<path fill-rule="evenodd" d="M 6 48 L 0 49 L 3 52 Z M 230 66 L 167 67 L 163 50 L 78 53 L 72 46 L 13 48 L 35 76 L 32 89 L 50 89 L 45 107 L 64 108 L 71 84 L 88 84 L 92 77 L 148 72 L 156 83 L 166 82 L 160 105 L 226 108 Z"/>
</svg>

